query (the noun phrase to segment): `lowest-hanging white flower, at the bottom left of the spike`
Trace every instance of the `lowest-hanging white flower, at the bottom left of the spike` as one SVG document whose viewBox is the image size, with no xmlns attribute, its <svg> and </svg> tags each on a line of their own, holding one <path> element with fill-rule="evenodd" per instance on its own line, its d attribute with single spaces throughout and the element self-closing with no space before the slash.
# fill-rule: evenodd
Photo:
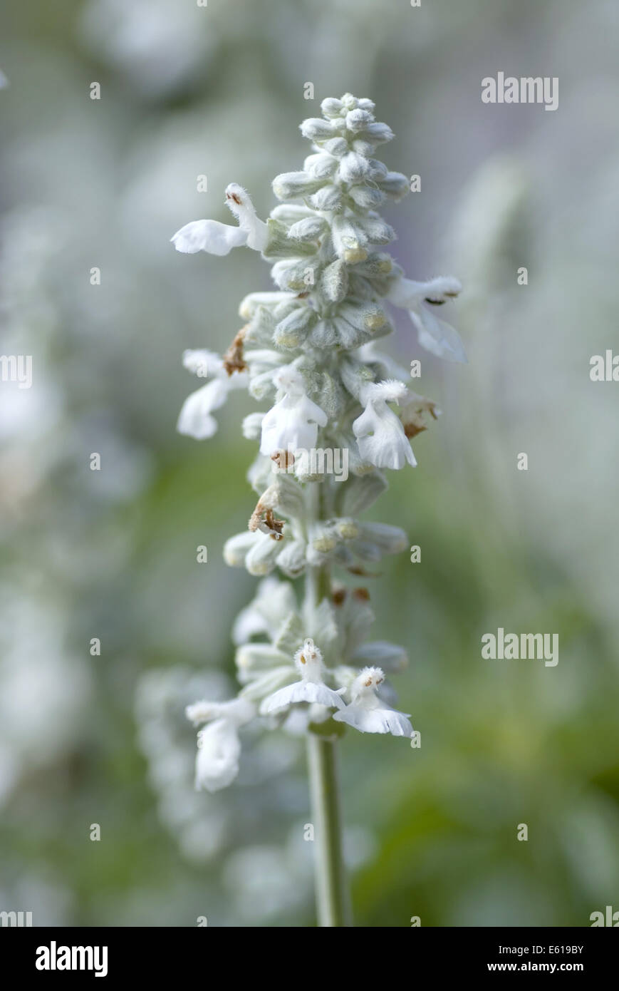
<svg viewBox="0 0 619 991">
<path fill-rule="evenodd" d="M 255 706 L 247 699 L 196 702 L 193 706 L 187 706 L 185 713 L 194 724 L 213 720 L 198 732 L 196 789 L 217 792 L 227 788 L 239 774 L 239 727 L 256 716 Z"/>
</svg>

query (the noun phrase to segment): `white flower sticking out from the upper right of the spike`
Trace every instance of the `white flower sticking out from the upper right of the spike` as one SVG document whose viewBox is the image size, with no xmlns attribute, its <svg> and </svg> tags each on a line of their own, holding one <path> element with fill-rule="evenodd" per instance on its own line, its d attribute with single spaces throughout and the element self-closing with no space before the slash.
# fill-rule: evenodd
<svg viewBox="0 0 619 991">
<path fill-rule="evenodd" d="M 391 286 L 386 298 L 394 306 L 408 310 L 422 348 L 438 358 L 466 364 L 466 353 L 458 331 L 451 324 L 439 320 L 428 306 L 422 305 L 441 306 L 448 299 L 455 298 L 461 290 L 461 283 L 451 275 L 440 275 L 427 282 L 400 277 Z"/>
</svg>

